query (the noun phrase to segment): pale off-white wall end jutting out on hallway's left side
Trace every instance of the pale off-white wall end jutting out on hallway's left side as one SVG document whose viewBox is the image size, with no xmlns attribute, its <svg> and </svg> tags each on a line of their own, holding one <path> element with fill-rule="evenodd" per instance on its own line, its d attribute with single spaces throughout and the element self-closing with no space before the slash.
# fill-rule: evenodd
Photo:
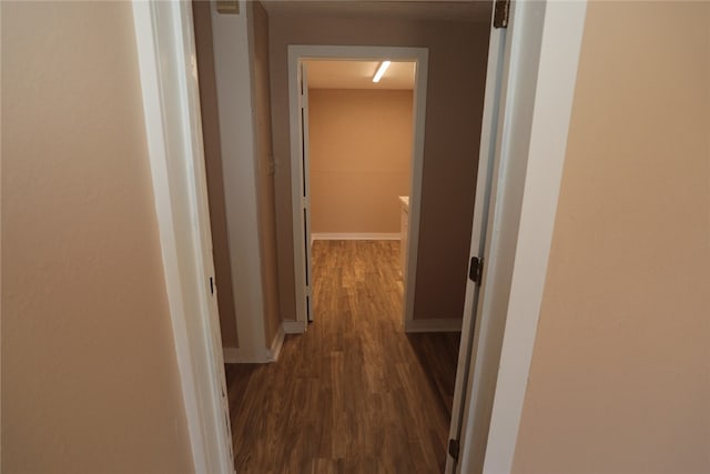
<svg viewBox="0 0 710 474">
<path fill-rule="evenodd" d="M 219 13 L 214 2 L 210 4 L 239 353 L 242 361 L 264 362 L 264 286 L 247 4 L 240 2 L 240 14 Z"/>
</svg>

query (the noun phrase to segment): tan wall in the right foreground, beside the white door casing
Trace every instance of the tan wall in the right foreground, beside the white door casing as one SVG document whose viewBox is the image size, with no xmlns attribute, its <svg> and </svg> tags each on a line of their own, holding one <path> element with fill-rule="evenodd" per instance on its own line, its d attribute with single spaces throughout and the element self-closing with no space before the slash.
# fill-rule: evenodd
<svg viewBox="0 0 710 474">
<path fill-rule="evenodd" d="M 709 24 L 589 3 L 516 473 L 710 472 Z"/>
</svg>

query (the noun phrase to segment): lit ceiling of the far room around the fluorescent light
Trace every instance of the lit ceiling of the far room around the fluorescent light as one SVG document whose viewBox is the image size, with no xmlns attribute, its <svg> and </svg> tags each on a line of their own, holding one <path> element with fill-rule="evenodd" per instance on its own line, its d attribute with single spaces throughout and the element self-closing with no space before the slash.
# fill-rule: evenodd
<svg viewBox="0 0 710 474">
<path fill-rule="evenodd" d="M 308 89 L 414 90 L 414 62 L 392 62 L 379 82 L 373 75 L 379 61 L 310 60 Z"/>
</svg>

